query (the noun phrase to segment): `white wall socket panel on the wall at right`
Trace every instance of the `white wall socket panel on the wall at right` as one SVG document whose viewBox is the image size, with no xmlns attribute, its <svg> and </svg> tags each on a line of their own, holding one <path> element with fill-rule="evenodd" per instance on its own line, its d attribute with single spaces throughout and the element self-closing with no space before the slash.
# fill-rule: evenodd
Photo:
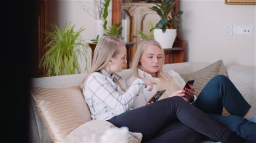
<svg viewBox="0 0 256 143">
<path fill-rule="evenodd" d="M 252 26 L 228 25 L 228 34 L 232 36 L 236 36 L 236 35 L 252 36 Z"/>
</svg>

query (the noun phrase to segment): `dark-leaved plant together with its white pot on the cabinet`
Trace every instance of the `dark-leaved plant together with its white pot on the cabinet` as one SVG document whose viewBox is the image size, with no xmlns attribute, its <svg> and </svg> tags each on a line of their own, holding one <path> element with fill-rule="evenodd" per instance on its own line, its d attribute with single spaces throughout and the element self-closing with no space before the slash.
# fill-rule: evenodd
<svg viewBox="0 0 256 143">
<path fill-rule="evenodd" d="M 176 2 L 173 0 L 161 0 L 160 4 L 158 4 L 158 1 L 154 2 L 156 2 L 156 6 L 149 9 L 156 11 L 161 20 L 150 31 L 154 30 L 154 38 L 160 43 L 162 48 L 172 48 L 177 36 L 177 28 L 182 29 L 181 25 L 177 22 L 179 22 L 179 16 L 183 14 L 183 11 L 178 11 L 177 14 L 171 11 L 176 6 Z M 171 16 L 168 16 L 170 12 Z"/>
</svg>

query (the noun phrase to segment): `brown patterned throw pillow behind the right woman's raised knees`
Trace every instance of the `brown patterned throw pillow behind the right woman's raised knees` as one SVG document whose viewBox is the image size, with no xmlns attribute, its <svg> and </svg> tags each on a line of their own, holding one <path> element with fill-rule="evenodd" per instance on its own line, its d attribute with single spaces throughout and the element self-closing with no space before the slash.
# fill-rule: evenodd
<svg viewBox="0 0 256 143">
<path fill-rule="evenodd" d="M 218 60 L 215 63 L 199 70 L 195 71 L 193 73 L 189 74 L 180 74 L 181 77 L 185 80 L 195 80 L 194 86 L 195 86 L 195 96 L 199 96 L 202 89 L 205 87 L 205 85 L 212 79 L 213 77 L 222 74 L 224 76 L 227 76 L 226 70 L 223 64 L 223 60 Z M 228 111 L 224 108 L 222 115 L 230 115 Z"/>
</svg>

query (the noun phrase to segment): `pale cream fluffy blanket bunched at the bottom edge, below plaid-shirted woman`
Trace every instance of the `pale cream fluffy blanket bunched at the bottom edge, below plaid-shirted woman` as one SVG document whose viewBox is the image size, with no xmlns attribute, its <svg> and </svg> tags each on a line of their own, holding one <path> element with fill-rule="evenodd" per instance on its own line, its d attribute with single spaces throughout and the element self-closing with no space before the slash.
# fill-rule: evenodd
<svg viewBox="0 0 256 143">
<path fill-rule="evenodd" d="M 91 120 L 74 129 L 65 142 L 141 142 L 142 134 L 115 127 L 103 120 Z"/>
</svg>

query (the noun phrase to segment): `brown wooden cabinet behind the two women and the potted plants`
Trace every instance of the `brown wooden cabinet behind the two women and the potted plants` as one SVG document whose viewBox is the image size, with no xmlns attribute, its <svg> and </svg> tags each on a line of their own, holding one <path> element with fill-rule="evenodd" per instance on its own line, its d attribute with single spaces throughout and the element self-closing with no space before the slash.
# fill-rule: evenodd
<svg viewBox="0 0 256 143">
<path fill-rule="evenodd" d="M 179 11 L 179 0 L 174 0 L 177 5 L 173 9 L 174 13 L 178 13 Z M 113 1 L 112 3 L 112 23 L 119 23 L 121 22 L 121 1 Z M 130 3 L 130 9 L 128 11 L 130 17 L 130 42 L 135 42 L 135 45 L 131 47 L 130 50 L 130 60 L 127 62 L 131 62 L 133 59 L 137 46 L 141 39 L 137 35 L 138 30 L 143 29 L 143 21 L 147 15 L 155 14 L 155 11 L 150 10 L 149 7 L 153 7 L 154 3 L 147 3 L 147 2 L 134 2 Z M 182 63 L 185 61 L 185 41 L 179 39 L 178 37 L 173 43 L 173 48 L 165 49 L 165 64 L 171 63 Z M 131 65 L 131 64 L 130 64 Z"/>
</svg>

